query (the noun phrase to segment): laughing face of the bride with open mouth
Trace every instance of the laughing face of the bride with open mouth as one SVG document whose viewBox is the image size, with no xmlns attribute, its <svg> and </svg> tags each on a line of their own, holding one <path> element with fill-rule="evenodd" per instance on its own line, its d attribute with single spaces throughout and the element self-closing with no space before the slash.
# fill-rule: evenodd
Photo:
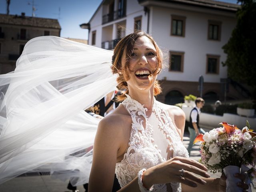
<svg viewBox="0 0 256 192">
<path fill-rule="evenodd" d="M 126 65 L 125 54 L 122 56 L 122 68 Z M 135 42 L 129 59 L 130 78 L 126 79 L 128 89 L 154 88 L 157 75 L 153 75 L 157 67 L 156 48 L 146 36 L 141 36 Z M 152 79 L 150 80 L 150 76 Z"/>
</svg>

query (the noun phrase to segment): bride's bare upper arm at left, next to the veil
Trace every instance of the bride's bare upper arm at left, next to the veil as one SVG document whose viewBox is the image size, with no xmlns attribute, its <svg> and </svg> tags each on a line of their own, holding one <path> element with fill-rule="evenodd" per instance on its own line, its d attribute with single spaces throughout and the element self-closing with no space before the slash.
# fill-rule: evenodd
<svg viewBox="0 0 256 192">
<path fill-rule="evenodd" d="M 122 139 L 118 122 L 111 116 L 99 122 L 94 140 L 89 192 L 112 191 L 117 153 Z"/>
</svg>

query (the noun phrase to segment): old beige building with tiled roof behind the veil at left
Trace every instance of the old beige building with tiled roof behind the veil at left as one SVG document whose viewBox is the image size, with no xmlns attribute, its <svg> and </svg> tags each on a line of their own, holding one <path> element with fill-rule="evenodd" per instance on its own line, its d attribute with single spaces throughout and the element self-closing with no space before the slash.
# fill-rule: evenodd
<svg viewBox="0 0 256 192">
<path fill-rule="evenodd" d="M 0 14 L 0 74 L 16 67 L 23 48 L 30 39 L 38 36 L 60 36 L 60 24 L 56 19 Z"/>
</svg>

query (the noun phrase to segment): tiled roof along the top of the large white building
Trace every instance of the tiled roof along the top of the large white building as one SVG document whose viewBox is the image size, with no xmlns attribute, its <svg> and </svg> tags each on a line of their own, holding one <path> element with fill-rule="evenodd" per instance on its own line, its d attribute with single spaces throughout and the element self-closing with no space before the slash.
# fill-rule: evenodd
<svg viewBox="0 0 256 192">
<path fill-rule="evenodd" d="M 147 1 L 148 0 L 138 0 L 139 3 L 147 2 Z M 154 2 L 154 0 L 152 2 Z M 226 10 L 226 11 L 232 11 L 232 12 L 236 12 L 236 10 L 240 7 L 240 5 L 238 4 L 220 2 L 215 0 L 158 0 L 158 2 L 187 4 L 192 6 L 200 6 L 205 8 Z"/>
</svg>

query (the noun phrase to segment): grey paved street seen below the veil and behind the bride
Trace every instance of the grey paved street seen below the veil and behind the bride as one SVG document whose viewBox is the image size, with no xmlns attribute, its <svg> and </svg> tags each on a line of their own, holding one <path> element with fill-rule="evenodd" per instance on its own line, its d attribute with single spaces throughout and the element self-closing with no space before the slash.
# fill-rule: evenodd
<svg viewBox="0 0 256 192">
<path fill-rule="evenodd" d="M 188 133 L 184 134 L 184 145 L 188 146 Z M 199 160 L 199 145 L 196 144 L 191 151 L 191 158 Z M 209 172 L 209 174 L 211 174 Z M 219 177 L 220 174 L 211 174 L 212 177 Z M 13 178 L 0 185 L 0 192 L 71 192 L 66 188 L 68 181 L 62 182 L 52 179 L 49 175 L 40 175 L 37 173 Z M 80 192 L 84 192 L 83 186 L 78 186 Z M 252 190 L 256 192 L 256 188 Z"/>
</svg>

